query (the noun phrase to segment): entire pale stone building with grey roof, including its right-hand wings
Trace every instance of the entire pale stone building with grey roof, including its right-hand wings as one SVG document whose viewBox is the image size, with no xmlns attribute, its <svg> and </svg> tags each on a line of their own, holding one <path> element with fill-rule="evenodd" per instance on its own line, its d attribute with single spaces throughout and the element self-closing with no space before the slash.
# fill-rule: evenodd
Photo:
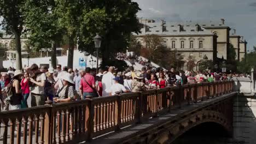
<svg viewBox="0 0 256 144">
<path fill-rule="evenodd" d="M 203 56 L 217 61 L 229 58 L 230 44 L 236 51 L 236 59 L 246 57 L 246 40 L 234 33 L 230 34 L 231 28 L 225 24 L 224 19 L 219 21 L 185 21 L 185 22 L 155 22 L 150 19 L 139 19 L 144 27 L 137 37 L 138 43 L 143 44 L 143 36 L 157 34 L 164 38 L 164 45 L 176 49 L 184 60 L 194 56 L 195 61 L 201 61 Z M 181 29 L 182 28 L 182 29 Z M 190 44 L 191 43 L 191 44 Z M 175 45 L 175 48 L 172 48 Z M 193 48 L 190 48 L 193 45 Z M 183 48 L 184 47 L 184 48 Z"/>
</svg>

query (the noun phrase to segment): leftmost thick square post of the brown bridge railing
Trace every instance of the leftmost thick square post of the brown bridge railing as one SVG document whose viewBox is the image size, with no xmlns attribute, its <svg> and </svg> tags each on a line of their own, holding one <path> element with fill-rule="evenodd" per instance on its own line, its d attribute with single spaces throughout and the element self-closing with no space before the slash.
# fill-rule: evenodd
<svg viewBox="0 0 256 144">
<path fill-rule="evenodd" d="M 45 105 L 49 106 L 49 111 L 46 111 L 44 116 L 44 143 L 51 144 L 53 143 L 53 128 L 55 127 L 55 125 L 53 125 L 53 101 L 46 100 Z"/>
</svg>

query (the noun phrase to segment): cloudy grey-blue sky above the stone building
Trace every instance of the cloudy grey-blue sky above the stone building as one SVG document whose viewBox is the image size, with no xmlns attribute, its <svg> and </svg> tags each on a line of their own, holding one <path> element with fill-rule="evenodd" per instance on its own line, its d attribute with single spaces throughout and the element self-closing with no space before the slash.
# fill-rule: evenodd
<svg viewBox="0 0 256 144">
<path fill-rule="evenodd" d="M 216 21 L 225 24 L 244 36 L 247 49 L 256 46 L 255 0 L 133 0 L 142 10 L 138 17 L 160 17 L 166 21 Z M 161 18 L 162 17 L 162 18 Z M 230 31 L 232 33 L 232 31 Z"/>
</svg>

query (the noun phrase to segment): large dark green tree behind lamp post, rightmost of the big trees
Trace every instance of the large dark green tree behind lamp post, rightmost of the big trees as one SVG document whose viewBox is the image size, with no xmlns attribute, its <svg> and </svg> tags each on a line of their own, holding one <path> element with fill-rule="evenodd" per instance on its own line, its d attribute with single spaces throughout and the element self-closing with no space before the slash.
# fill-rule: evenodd
<svg viewBox="0 0 256 144">
<path fill-rule="evenodd" d="M 102 45 L 100 48 L 100 55 L 102 58 L 102 65 L 107 65 L 107 61 L 115 58 L 115 53 L 124 52 L 129 45 L 129 39 L 131 32 L 139 33 L 142 25 L 137 19 L 137 12 L 140 10 L 136 2 L 131 0 L 127 1 L 90 1 L 88 9 L 86 11 L 98 9 L 95 13 L 102 15 L 96 15 L 95 25 L 100 26 L 103 22 L 103 26 L 96 27 L 94 31 L 88 33 L 88 31 L 82 31 L 82 37 L 79 37 L 79 49 L 89 52 L 95 55 L 94 43 L 92 41 L 96 32 L 102 37 Z M 104 14 L 103 14 L 104 12 Z M 91 13 L 94 15 L 95 13 Z M 106 16 L 104 16 L 106 15 Z M 85 15 L 89 16 L 89 15 Z M 106 19 L 98 19 L 98 17 L 106 17 Z M 90 17 L 90 16 L 89 16 Z M 88 23 L 84 19 L 85 23 Z M 88 19 L 90 22 L 94 20 Z M 88 29 L 95 27 L 94 25 L 86 26 Z M 83 28 L 85 30 L 85 28 Z"/>
</svg>

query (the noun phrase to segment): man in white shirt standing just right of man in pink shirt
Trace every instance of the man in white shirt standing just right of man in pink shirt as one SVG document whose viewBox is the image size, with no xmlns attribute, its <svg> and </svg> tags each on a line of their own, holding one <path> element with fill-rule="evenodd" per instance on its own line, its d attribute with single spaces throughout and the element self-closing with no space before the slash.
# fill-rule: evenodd
<svg viewBox="0 0 256 144">
<path fill-rule="evenodd" d="M 113 75 L 114 67 L 108 68 L 108 73 L 104 74 L 102 77 L 102 96 L 107 96 L 109 93 L 107 89 L 109 89 L 113 84 L 115 76 Z"/>
</svg>

